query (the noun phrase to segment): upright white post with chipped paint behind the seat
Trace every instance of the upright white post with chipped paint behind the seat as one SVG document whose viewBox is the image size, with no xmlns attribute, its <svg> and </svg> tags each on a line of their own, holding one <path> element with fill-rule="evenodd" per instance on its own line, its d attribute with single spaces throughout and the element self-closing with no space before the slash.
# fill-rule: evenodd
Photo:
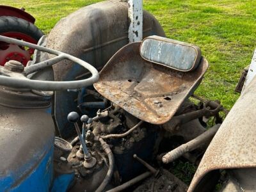
<svg viewBox="0 0 256 192">
<path fill-rule="evenodd" d="M 128 0 L 128 17 L 131 20 L 128 29 L 129 43 L 141 41 L 143 38 L 143 0 Z"/>
</svg>

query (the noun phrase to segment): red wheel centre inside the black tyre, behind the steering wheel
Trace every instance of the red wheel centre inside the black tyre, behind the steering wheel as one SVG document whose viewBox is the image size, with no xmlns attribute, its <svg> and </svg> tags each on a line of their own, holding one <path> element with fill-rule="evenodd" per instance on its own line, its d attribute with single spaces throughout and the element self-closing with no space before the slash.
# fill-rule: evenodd
<svg viewBox="0 0 256 192">
<path fill-rule="evenodd" d="M 36 44 L 37 41 L 29 35 L 19 32 L 6 32 L 0 35 L 17 38 L 26 42 Z M 27 49 L 26 49 L 27 48 Z M 34 49 L 28 49 L 28 47 L 22 47 L 15 44 L 8 44 L 6 42 L 0 42 L 0 65 L 4 65 L 7 61 L 16 60 L 20 61 L 24 66 L 31 60 L 31 55 L 34 53 Z"/>
</svg>

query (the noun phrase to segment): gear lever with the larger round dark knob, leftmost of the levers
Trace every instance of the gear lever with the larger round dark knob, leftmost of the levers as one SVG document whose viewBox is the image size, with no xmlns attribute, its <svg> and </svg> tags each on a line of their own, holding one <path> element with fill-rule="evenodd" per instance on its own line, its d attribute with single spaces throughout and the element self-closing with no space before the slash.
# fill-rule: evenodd
<svg viewBox="0 0 256 192">
<path fill-rule="evenodd" d="M 86 116 L 84 116 L 83 120 L 86 120 L 85 118 L 86 118 Z M 88 151 L 88 148 L 86 147 L 85 138 L 83 138 L 83 136 L 81 134 L 81 131 L 79 129 L 79 125 L 77 124 L 77 122 L 79 120 L 78 113 L 76 113 L 74 111 L 70 112 L 67 116 L 67 119 L 68 119 L 68 122 L 74 124 L 74 126 L 76 128 L 77 135 L 78 135 L 79 140 L 81 142 L 81 145 L 82 145 L 82 148 L 83 148 L 83 154 L 84 154 L 84 163 L 83 163 L 84 167 L 85 168 L 92 168 L 96 164 L 96 159 L 95 159 L 95 157 L 92 157 L 92 155 Z M 86 122 L 87 122 L 87 120 L 86 120 Z"/>
</svg>

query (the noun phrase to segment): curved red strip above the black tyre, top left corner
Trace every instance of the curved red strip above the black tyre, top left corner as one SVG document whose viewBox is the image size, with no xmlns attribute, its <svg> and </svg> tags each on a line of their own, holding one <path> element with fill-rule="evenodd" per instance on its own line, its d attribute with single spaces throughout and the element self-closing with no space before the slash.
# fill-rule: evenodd
<svg viewBox="0 0 256 192">
<path fill-rule="evenodd" d="M 28 22 L 31 22 L 33 24 L 35 24 L 35 20 L 36 20 L 35 17 L 33 17 L 27 12 L 24 12 L 12 6 L 4 6 L 4 5 L 0 5 L 0 17 L 1 16 L 18 17 L 20 19 L 28 20 Z"/>
</svg>

